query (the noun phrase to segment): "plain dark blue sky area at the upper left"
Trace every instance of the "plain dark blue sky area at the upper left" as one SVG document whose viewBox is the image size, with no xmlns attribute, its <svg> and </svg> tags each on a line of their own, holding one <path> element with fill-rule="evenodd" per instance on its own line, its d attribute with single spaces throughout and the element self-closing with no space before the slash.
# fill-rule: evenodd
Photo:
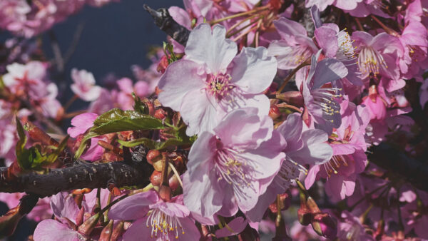
<svg viewBox="0 0 428 241">
<path fill-rule="evenodd" d="M 54 26 L 61 50 L 65 52 L 76 27 L 84 23 L 76 51 L 66 65 L 66 76 L 69 77 L 71 68 L 84 68 L 99 80 L 109 72 L 117 76 L 131 76 L 130 67 L 133 64 L 148 66 L 148 48 L 161 45 L 166 36 L 153 24 L 143 4 L 154 9 L 183 6 L 179 0 L 122 0 L 101 8 L 86 6 L 78 14 Z M 43 40 L 46 53 L 53 56 L 46 34 Z"/>
</svg>

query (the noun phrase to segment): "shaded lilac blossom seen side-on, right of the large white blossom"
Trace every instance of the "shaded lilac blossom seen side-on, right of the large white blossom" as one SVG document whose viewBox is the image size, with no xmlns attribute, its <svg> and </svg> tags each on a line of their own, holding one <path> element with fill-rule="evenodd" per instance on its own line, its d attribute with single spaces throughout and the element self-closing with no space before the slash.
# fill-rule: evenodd
<svg viewBox="0 0 428 241">
<path fill-rule="evenodd" d="M 332 133 L 332 128 L 339 128 L 340 104 L 337 98 L 342 96 L 339 88 L 323 87 L 347 76 L 345 65 L 334 58 L 324 58 L 317 63 L 321 50 L 312 56 L 310 71 L 302 81 L 302 96 L 308 113 L 315 122 L 315 127 Z"/>
</svg>

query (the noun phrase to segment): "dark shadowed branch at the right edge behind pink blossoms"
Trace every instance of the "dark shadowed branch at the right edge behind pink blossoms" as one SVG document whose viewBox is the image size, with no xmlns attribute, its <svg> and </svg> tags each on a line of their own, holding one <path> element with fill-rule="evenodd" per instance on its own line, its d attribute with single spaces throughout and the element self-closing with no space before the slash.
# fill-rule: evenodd
<svg viewBox="0 0 428 241">
<path fill-rule="evenodd" d="M 387 143 L 374 145 L 369 160 L 385 170 L 402 175 L 404 180 L 415 188 L 428 192 L 428 165 L 419 160 L 409 158 L 405 153 Z"/>
</svg>

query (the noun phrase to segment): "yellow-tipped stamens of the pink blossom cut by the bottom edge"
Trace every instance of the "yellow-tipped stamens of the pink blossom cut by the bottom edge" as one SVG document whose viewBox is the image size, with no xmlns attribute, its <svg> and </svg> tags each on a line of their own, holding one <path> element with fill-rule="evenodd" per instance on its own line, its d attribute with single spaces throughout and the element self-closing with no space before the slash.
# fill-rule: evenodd
<svg viewBox="0 0 428 241">
<path fill-rule="evenodd" d="M 159 235 L 163 235 L 166 240 L 168 240 L 168 234 L 170 232 L 173 233 L 175 239 L 178 239 L 180 233 L 185 233 L 178 217 L 167 215 L 159 209 L 153 209 L 149 212 L 146 220 L 146 227 L 151 227 L 152 238 L 158 237 L 158 232 L 160 232 Z"/>
</svg>

